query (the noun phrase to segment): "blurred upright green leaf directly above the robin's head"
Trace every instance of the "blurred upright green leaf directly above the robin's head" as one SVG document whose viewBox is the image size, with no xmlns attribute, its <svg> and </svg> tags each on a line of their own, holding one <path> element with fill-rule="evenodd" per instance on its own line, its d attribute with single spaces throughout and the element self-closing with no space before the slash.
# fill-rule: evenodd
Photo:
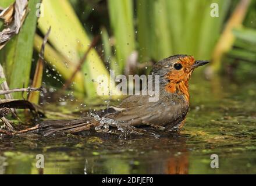
<svg viewBox="0 0 256 186">
<path fill-rule="evenodd" d="M 159 60 L 173 54 L 170 12 L 165 0 L 137 1 L 140 60 Z"/>
</svg>

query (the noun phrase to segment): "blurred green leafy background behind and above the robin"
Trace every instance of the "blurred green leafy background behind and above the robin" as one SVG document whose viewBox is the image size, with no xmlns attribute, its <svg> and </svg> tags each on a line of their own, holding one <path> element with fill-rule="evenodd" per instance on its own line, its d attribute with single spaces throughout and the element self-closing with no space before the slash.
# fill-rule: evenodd
<svg viewBox="0 0 256 186">
<path fill-rule="evenodd" d="M 12 2 L 2 0 L 0 6 Z M 0 51 L 10 88 L 32 84 L 37 52 L 50 26 L 41 81 L 58 89 L 71 81 L 65 89 L 87 97 L 97 96 L 98 84 L 108 86 L 109 69 L 116 74 L 145 74 L 152 63 L 175 54 L 211 60 L 204 70 L 208 77 L 255 74 L 255 0 L 43 0 L 38 6 L 39 2 L 29 1 L 30 12 L 20 33 Z M 88 51 L 95 37 L 99 41 Z"/>
</svg>

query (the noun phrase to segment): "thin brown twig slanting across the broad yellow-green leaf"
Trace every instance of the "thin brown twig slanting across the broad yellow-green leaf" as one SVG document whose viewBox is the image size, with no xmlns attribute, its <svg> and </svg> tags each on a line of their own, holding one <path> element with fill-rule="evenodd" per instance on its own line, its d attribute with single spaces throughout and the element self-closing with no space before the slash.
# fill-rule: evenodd
<svg viewBox="0 0 256 186">
<path fill-rule="evenodd" d="M 90 44 L 90 47 L 87 49 L 86 53 L 84 53 L 83 58 L 80 59 L 79 65 L 76 67 L 76 70 L 74 70 L 72 76 L 69 78 L 69 80 L 66 81 L 65 85 L 63 85 L 62 90 L 66 90 L 66 88 L 69 87 L 69 85 L 73 81 L 74 77 L 76 76 L 77 72 L 79 72 L 81 70 L 81 67 L 83 66 L 84 62 L 86 61 L 86 58 L 87 58 L 89 52 L 91 51 L 91 49 L 93 49 L 95 47 L 98 40 L 99 40 L 99 35 L 94 37 L 93 41 Z"/>
</svg>

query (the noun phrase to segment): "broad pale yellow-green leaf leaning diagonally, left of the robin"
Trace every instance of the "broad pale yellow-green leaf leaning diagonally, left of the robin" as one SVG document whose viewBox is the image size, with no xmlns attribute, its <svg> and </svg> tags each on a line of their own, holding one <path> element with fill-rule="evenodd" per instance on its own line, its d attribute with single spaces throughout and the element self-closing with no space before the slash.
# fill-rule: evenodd
<svg viewBox="0 0 256 186">
<path fill-rule="evenodd" d="M 87 51 L 91 41 L 72 6 L 67 0 L 44 0 L 43 8 L 44 16 L 38 20 L 38 27 L 45 34 L 49 26 L 51 26 L 52 32 L 49 36 L 49 42 L 61 55 L 68 59 L 66 62 L 68 66 L 77 66 L 81 53 Z M 45 51 L 45 55 L 47 55 L 47 51 Z M 104 77 L 102 81 L 108 82 L 108 71 L 95 49 L 91 49 L 85 63 L 88 63 L 88 66 L 84 73 L 90 71 L 90 77 L 85 78 L 87 84 L 92 80 L 97 80 L 102 74 L 104 74 L 104 76 L 101 76 Z M 64 76 L 63 73 L 65 72 L 62 72 Z M 98 83 L 94 81 L 93 85 L 90 89 L 93 89 L 95 92 Z M 107 84 L 105 86 L 108 87 Z M 88 90 L 88 87 L 86 88 Z M 105 90 L 104 94 L 106 95 L 108 90 Z"/>
</svg>

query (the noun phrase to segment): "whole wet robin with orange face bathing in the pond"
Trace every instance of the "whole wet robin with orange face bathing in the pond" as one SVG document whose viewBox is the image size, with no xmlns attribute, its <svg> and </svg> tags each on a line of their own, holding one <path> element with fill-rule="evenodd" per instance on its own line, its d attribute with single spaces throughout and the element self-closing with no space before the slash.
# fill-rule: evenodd
<svg viewBox="0 0 256 186">
<path fill-rule="evenodd" d="M 190 55 L 165 58 L 152 68 L 159 75 L 159 100 L 149 101 L 150 95 L 132 95 L 118 107 L 75 120 L 42 121 L 44 135 L 79 133 L 94 129 L 113 134 L 144 134 L 147 128 L 179 132 L 189 112 L 189 80 L 193 70 L 209 63 Z"/>
</svg>

